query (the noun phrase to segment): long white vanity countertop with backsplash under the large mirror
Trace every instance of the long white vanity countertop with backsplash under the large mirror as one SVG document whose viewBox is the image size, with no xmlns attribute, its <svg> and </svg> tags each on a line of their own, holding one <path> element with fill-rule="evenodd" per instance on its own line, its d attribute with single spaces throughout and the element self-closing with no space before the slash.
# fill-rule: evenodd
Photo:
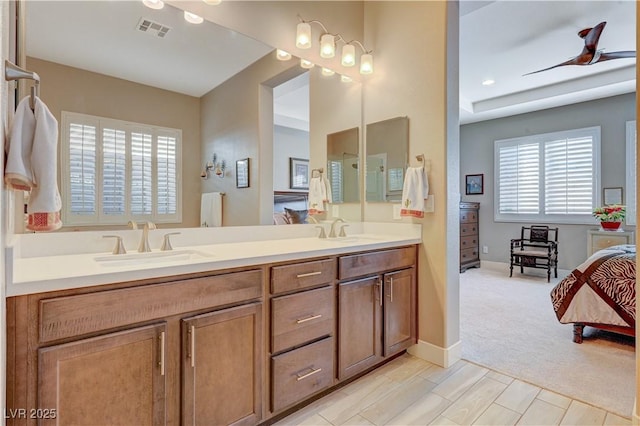
<svg viewBox="0 0 640 426">
<path fill-rule="evenodd" d="M 130 248 L 137 247 L 141 231 L 116 232 L 125 239 L 126 255 L 111 254 L 114 241 L 102 238 L 114 232 L 16 236 L 7 248 L 7 265 L 12 263 L 13 268 L 7 274 L 6 294 L 10 297 L 391 248 L 419 244 L 422 238 L 416 224 L 350 224 L 346 238 L 326 239 L 309 236 L 317 233 L 312 225 L 195 228 L 178 230 L 184 235 L 172 238 L 173 252 L 155 249 L 163 234 L 175 231 L 153 231 L 151 253 Z M 211 244 L 212 240 L 217 241 Z"/>
</svg>

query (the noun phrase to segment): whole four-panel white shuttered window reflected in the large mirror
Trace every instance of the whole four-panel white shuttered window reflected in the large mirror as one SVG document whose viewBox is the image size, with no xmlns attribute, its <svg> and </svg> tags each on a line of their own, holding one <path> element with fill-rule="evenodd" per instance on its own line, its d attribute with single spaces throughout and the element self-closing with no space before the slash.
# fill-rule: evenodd
<svg viewBox="0 0 640 426">
<path fill-rule="evenodd" d="M 62 112 L 65 225 L 182 221 L 182 132 Z"/>
</svg>

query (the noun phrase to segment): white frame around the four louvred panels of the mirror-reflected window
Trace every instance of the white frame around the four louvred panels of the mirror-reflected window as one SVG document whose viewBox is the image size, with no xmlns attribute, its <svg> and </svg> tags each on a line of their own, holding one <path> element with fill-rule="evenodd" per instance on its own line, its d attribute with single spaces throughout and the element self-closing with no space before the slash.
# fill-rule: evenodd
<svg viewBox="0 0 640 426">
<path fill-rule="evenodd" d="M 95 157 L 95 212 L 93 214 L 79 215 L 71 212 L 71 183 L 70 183 L 70 125 L 83 124 L 96 127 L 96 157 Z M 103 149 L 104 129 L 116 129 L 125 131 L 126 144 L 126 168 L 125 168 L 125 214 L 109 215 L 103 209 Z M 131 213 L 131 134 L 132 132 L 145 132 L 152 135 L 151 149 L 151 185 L 152 185 L 152 209 L 151 214 Z M 176 140 L 175 153 L 175 179 L 176 179 L 176 213 L 158 213 L 158 138 L 171 137 Z M 60 149 L 60 180 L 63 194 L 62 220 L 65 226 L 104 226 L 126 225 L 128 221 L 137 222 L 152 221 L 154 223 L 177 224 L 182 222 L 182 130 L 162 126 L 135 123 L 117 120 L 107 117 L 93 116 L 76 112 L 62 111 L 61 113 L 61 149 Z"/>
</svg>

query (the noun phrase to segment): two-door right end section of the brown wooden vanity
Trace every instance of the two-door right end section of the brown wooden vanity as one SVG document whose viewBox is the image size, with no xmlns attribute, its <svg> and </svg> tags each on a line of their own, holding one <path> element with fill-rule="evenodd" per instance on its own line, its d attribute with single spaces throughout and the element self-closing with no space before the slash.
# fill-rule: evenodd
<svg viewBox="0 0 640 426">
<path fill-rule="evenodd" d="M 415 262 L 413 246 L 340 257 L 340 380 L 416 343 Z"/>
</svg>

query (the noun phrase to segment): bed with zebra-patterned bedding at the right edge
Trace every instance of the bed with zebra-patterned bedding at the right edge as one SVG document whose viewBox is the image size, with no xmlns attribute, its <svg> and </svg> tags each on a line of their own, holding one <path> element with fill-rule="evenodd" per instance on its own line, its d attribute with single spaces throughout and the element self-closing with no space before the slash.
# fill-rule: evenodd
<svg viewBox="0 0 640 426">
<path fill-rule="evenodd" d="M 573 341 L 585 326 L 635 336 L 636 246 L 599 250 L 551 290 L 558 321 L 573 323 Z"/>
</svg>

